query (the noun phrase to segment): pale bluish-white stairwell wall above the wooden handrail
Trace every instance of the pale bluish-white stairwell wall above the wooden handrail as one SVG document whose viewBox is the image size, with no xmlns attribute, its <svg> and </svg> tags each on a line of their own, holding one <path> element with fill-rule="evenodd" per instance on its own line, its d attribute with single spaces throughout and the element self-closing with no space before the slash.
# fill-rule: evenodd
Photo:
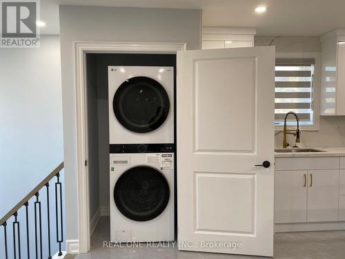
<svg viewBox="0 0 345 259">
<path fill-rule="evenodd" d="M 1 218 L 63 161 L 59 37 L 0 48 L 0 80 Z"/>
</svg>

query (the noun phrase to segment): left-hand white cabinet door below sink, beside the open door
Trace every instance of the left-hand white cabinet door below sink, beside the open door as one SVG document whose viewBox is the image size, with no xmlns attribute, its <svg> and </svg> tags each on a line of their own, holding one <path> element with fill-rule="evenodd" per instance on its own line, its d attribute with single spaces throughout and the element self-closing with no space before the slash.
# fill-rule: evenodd
<svg viewBox="0 0 345 259">
<path fill-rule="evenodd" d="M 307 173 L 275 172 L 275 223 L 306 222 Z"/>
</svg>

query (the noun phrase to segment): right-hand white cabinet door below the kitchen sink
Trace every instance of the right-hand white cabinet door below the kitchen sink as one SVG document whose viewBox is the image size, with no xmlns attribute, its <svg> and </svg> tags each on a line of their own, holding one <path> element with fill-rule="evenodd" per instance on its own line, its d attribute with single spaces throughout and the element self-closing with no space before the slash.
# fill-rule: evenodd
<svg viewBox="0 0 345 259">
<path fill-rule="evenodd" d="M 308 171 L 308 222 L 338 220 L 339 170 Z"/>
</svg>

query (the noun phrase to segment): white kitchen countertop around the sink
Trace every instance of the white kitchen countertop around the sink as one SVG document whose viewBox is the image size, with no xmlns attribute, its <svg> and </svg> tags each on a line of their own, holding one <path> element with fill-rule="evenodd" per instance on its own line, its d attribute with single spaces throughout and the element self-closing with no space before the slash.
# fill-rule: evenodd
<svg viewBox="0 0 345 259">
<path fill-rule="evenodd" d="M 308 147 L 325 152 L 275 153 L 275 157 L 345 157 L 345 146 Z"/>
</svg>

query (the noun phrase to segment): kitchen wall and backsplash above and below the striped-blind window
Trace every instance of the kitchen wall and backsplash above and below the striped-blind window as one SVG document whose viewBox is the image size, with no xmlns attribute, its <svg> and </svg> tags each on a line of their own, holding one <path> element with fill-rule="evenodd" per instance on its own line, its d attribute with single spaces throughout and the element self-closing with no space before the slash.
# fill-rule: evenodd
<svg viewBox="0 0 345 259">
<path fill-rule="evenodd" d="M 278 52 L 321 52 L 319 37 L 275 37 L 256 36 L 255 46 L 268 46 L 270 42 Z M 288 142 L 295 137 L 288 135 Z M 283 134 L 275 136 L 275 146 L 282 147 Z M 321 116 L 319 131 L 302 131 L 300 146 L 345 146 L 345 116 Z"/>
</svg>

